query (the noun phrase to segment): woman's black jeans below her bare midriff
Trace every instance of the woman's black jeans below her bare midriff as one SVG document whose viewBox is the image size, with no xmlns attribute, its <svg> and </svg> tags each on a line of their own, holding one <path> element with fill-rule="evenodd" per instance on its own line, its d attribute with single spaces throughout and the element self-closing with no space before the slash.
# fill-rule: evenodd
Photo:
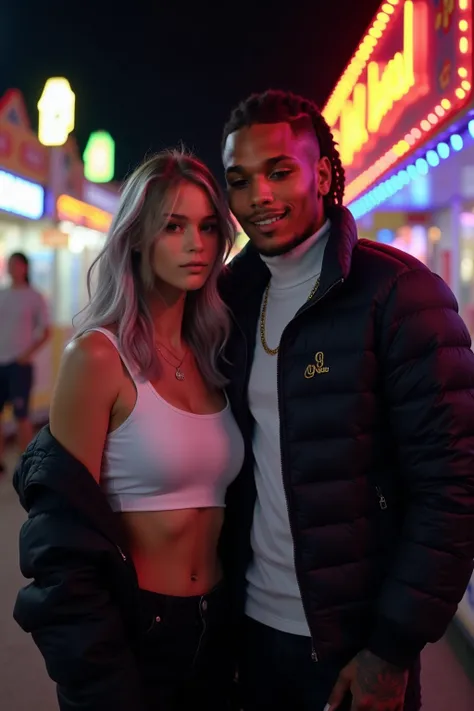
<svg viewBox="0 0 474 711">
<path fill-rule="evenodd" d="M 232 668 L 224 586 L 184 598 L 141 590 L 140 599 L 137 659 L 147 709 L 226 711 Z"/>
</svg>

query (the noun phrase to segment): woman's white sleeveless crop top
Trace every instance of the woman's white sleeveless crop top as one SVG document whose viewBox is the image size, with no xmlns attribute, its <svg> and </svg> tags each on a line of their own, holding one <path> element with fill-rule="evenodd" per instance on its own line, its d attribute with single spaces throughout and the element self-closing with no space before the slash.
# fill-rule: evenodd
<svg viewBox="0 0 474 711">
<path fill-rule="evenodd" d="M 119 350 L 117 339 L 94 328 Z M 137 391 L 133 411 L 107 436 L 101 487 L 114 511 L 170 511 L 225 506 L 244 460 L 244 442 L 229 402 L 195 415 L 170 405 L 137 377 L 119 352 Z M 227 399 L 227 396 L 226 396 Z"/>
</svg>

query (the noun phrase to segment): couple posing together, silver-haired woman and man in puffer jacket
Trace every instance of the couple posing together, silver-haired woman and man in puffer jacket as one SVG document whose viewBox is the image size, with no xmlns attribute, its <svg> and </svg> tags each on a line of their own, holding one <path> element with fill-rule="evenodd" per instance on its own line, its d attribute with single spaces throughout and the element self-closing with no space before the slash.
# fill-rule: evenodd
<svg viewBox="0 0 474 711">
<path fill-rule="evenodd" d="M 49 428 L 15 618 L 62 711 L 418 711 L 474 557 L 474 355 L 444 282 L 358 241 L 310 101 L 127 180 Z M 234 705 L 235 704 L 235 705 Z"/>
</svg>

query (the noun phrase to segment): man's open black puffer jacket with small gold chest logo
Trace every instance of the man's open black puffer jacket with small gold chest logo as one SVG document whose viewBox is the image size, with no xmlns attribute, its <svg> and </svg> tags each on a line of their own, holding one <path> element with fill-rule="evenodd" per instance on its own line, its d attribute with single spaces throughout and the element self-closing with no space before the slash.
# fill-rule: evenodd
<svg viewBox="0 0 474 711">
<path fill-rule="evenodd" d="M 358 241 L 349 211 L 328 216 L 319 291 L 278 355 L 297 577 L 319 659 L 368 647 L 409 666 L 443 635 L 473 568 L 474 354 L 438 276 Z M 268 280 L 251 245 L 222 280 L 236 322 L 229 394 L 248 445 L 223 536 L 240 604 L 255 502 L 246 393 Z M 308 370 L 321 357 L 326 370 Z"/>
</svg>

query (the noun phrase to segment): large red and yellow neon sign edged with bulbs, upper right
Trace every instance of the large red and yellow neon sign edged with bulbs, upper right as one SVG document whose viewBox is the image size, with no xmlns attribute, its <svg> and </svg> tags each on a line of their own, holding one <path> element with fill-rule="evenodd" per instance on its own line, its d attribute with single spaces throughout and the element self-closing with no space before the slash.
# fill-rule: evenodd
<svg viewBox="0 0 474 711">
<path fill-rule="evenodd" d="M 415 22 L 418 22 L 418 25 L 410 27 L 408 24 L 407 30 L 407 21 L 409 23 L 409 10 L 407 14 L 407 9 L 409 6 L 412 6 L 415 12 Z M 425 12 L 424 18 L 420 14 L 416 15 L 416 13 L 423 12 Z M 405 126 L 400 140 L 393 143 L 389 150 L 386 150 L 383 155 L 348 183 L 346 187 L 347 203 L 352 202 L 362 192 L 366 191 L 383 173 L 394 167 L 408 153 L 414 151 L 434 131 L 439 130 L 440 123 L 448 121 L 455 113 L 458 113 L 471 96 L 472 0 L 454 0 L 452 4 L 443 4 L 442 10 L 435 13 L 428 13 L 428 5 L 425 0 L 388 0 L 382 3 L 379 12 L 360 42 L 352 60 L 323 110 L 324 117 L 333 129 L 336 139 L 339 140 L 342 157 L 344 157 L 344 154 L 346 156 L 346 161 L 343 160 L 346 166 L 348 168 L 352 166 L 352 149 L 354 149 L 354 156 L 362 156 L 364 151 L 367 154 L 366 146 L 369 145 L 370 135 L 372 134 L 374 139 L 378 136 L 376 130 L 377 121 L 373 123 L 372 127 L 375 130 L 372 132 L 368 124 L 369 72 L 378 73 L 379 77 L 383 77 L 383 72 L 387 70 L 390 60 L 388 63 L 380 64 L 373 62 L 371 57 L 374 51 L 382 46 L 379 43 L 383 42 L 384 35 L 390 29 L 391 23 L 397 18 L 400 21 L 402 13 L 404 19 L 404 46 L 401 55 L 400 52 L 398 53 L 398 66 L 403 68 L 407 65 L 406 58 L 407 56 L 409 57 L 410 52 L 409 33 L 413 31 L 413 39 L 415 40 L 413 51 L 414 61 L 417 64 L 417 81 L 416 85 L 413 86 L 413 82 L 408 81 L 409 76 L 405 75 L 407 81 L 405 85 L 402 85 L 399 92 L 401 95 L 397 101 L 392 101 L 392 98 L 396 96 L 396 92 L 391 88 L 390 76 L 387 76 L 385 83 L 382 81 L 379 84 L 378 88 L 385 92 L 386 96 L 382 94 L 382 100 L 380 101 L 379 97 L 377 97 L 377 101 L 379 104 L 385 102 L 385 108 L 388 107 L 385 113 L 382 112 L 382 120 L 385 121 L 385 135 L 396 135 L 397 117 L 407 112 L 409 106 L 415 106 L 417 98 L 423 96 L 424 92 L 425 96 L 428 96 L 428 81 L 424 86 L 423 81 L 420 81 L 420 76 L 423 77 L 423 61 L 426 64 L 429 56 L 429 32 L 431 32 L 431 36 L 433 36 L 432 33 L 434 31 L 445 34 L 453 33 L 455 65 L 453 67 L 452 61 L 447 60 L 438 77 L 440 86 L 445 87 L 446 91 L 443 98 L 440 100 L 439 97 L 435 97 L 433 105 L 427 110 L 426 115 L 421 120 L 418 120 L 413 128 L 408 131 L 408 134 Z M 454 13 L 457 13 L 455 23 L 453 23 Z M 418 20 L 416 20 L 416 17 L 418 17 Z M 402 60 L 405 60 L 405 62 L 403 63 Z M 434 62 L 434 60 L 432 61 Z M 370 67 L 368 66 L 369 63 Z M 377 66 L 378 69 L 376 68 Z M 366 78 L 361 79 L 364 72 L 366 72 Z M 387 75 L 389 74 L 390 72 L 387 72 Z M 400 72 L 398 76 L 400 76 Z M 457 77 L 457 82 L 452 81 L 452 76 Z M 449 86 L 450 83 L 451 86 Z M 403 89 L 406 89 L 406 91 L 403 92 Z M 337 128 L 338 124 L 339 128 Z M 387 125 L 389 125 L 389 129 L 387 129 Z M 345 134 L 344 131 L 346 132 Z M 347 149 L 347 146 L 349 146 L 349 149 Z"/>
</svg>

